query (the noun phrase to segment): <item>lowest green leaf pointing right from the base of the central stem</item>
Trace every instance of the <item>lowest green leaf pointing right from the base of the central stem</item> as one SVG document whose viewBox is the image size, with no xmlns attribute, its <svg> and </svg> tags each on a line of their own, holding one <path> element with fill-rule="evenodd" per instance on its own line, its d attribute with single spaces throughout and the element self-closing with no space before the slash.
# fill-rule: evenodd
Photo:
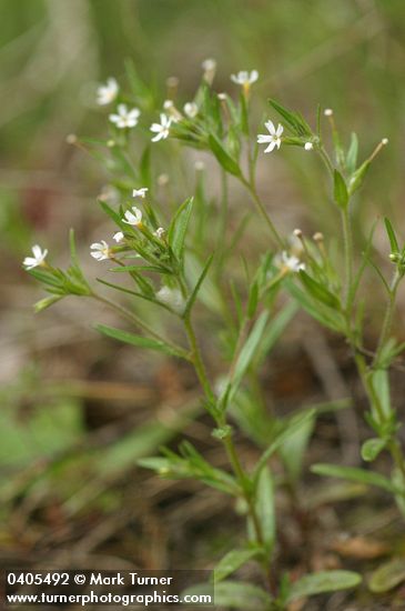
<svg viewBox="0 0 405 611">
<path fill-rule="evenodd" d="M 362 577 L 354 571 L 320 571 L 295 581 L 290 588 L 286 602 L 313 597 L 322 592 L 337 592 L 355 588 L 362 582 Z"/>
</svg>

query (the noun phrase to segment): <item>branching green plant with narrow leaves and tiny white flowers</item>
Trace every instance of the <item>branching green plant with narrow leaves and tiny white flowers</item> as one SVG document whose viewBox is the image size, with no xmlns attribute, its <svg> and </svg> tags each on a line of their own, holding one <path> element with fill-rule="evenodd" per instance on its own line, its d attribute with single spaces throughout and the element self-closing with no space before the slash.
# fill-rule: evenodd
<svg viewBox="0 0 405 611">
<path fill-rule="evenodd" d="M 399 244 L 392 222 L 385 219 L 389 260 L 394 267 L 393 279 L 388 282 L 384 271 L 372 261 L 375 227 L 365 243 L 361 244 L 363 256 L 360 262 L 353 240 L 354 198 L 374 158 L 387 144 L 386 139 L 365 161 L 358 163 L 356 136 L 352 136 L 351 144 L 345 150 L 333 111 L 326 109 L 324 116 L 333 137 L 331 154 L 322 137 L 321 110 L 317 112 L 316 129 L 312 129 L 300 113 L 274 100 L 270 101 L 270 107 L 281 122 L 276 127 L 272 119 L 266 119 L 264 127 L 269 133 L 256 136 L 260 128 L 252 129 L 251 87 L 259 79 L 257 71 L 241 71 L 231 77 L 232 82 L 241 88 L 235 101 L 227 93 L 213 90 L 215 69 L 214 60 L 203 63 L 203 76 L 195 97 L 184 103 L 175 102 L 175 97 L 180 94 L 176 82 L 171 81 L 170 94 L 173 99 L 162 102 L 160 122 L 155 122 L 153 94 L 130 66 L 129 94 L 124 96 L 112 78 L 98 91 L 100 106 L 117 106 L 115 112 L 109 114 L 108 138 L 97 143 L 89 139 L 70 138 L 73 143 L 80 142 L 81 147 L 101 148 L 101 158 L 112 176 L 111 187 L 118 201 L 110 201 L 109 197 L 103 196 L 99 198 L 99 203 L 111 221 L 115 243 L 111 244 L 103 238 L 91 244 L 90 254 L 100 264 L 109 267 L 109 280 L 98 278 L 97 282 L 113 291 L 115 299 L 100 293 L 93 282 L 84 277 L 75 253 L 73 233 L 72 263 L 68 270 L 52 267 L 48 251 L 39 246 L 33 247 L 33 257 L 27 257 L 23 264 L 51 296 L 37 303 L 37 311 L 69 294 L 95 299 L 114 309 L 133 328 L 118 329 L 99 323 L 97 329 L 101 333 L 139 349 L 182 359 L 194 368 L 204 408 L 213 421 L 212 435 L 223 445 L 229 469 L 211 464 L 190 442 L 183 442 L 178 453 L 163 449 L 161 455 L 145 458 L 140 464 L 155 470 L 163 478 L 196 479 L 237 501 L 239 512 L 246 520 L 247 534 L 245 542 L 232 549 L 213 571 L 217 604 L 244 609 L 246 600 L 254 597 L 257 609 L 284 609 L 296 599 L 353 588 L 361 581 L 361 575 L 353 571 L 336 570 L 311 573 L 292 582 L 288 575 L 280 574 L 276 565 L 277 487 L 285 485 L 292 503 L 300 507 L 297 482 L 316 418 L 325 410 L 347 408 L 347 402 L 300 408 L 288 417 L 270 414 L 260 388 L 260 372 L 300 309 L 343 337 L 352 350 L 367 395 L 369 407 L 366 420 L 374 431 L 373 437 L 362 445 L 362 458 L 373 462 L 381 452 L 387 451 L 393 469 L 389 477 L 372 470 L 326 463 L 312 465 L 312 471 L 388 491 L 405 515 L 405 462 L 388 377 L 389 367 L 404 349 L 404 344 L 397 342 L 391 332 L 395 300 L 405 274 L 405 248 Z M 199 152 L 205 151 L 216 160 L 222 184 L 219 208 L 213 207 L 206 196 L 205 166 L 198 161 L 192 197 L 184 193 L 188 197 L 171 214 L 164 209 L 156 196 L 150 143 L 136 159 L 139 142 L 142 142 L 142 133 L 145 132 L 152 147 L 166 147 L 170 156 L 176 156 L 175 163 L 179 166 L 183 164 L 179 143 Z M 161 142 L 163 140 L 169 142 Z M 265 148 L 261 149 L 261 144 Z M 292 231 L 293 228 L 290 228 L 287 236 L 284 236 L 260 197 L 256 188 L 259 156 L 262 152 L 279 154 L 284 147 L 298 147 L 317 154 L 326 168 L 331 200 L 342 220 L 343 267 L 331 248 L 332 240 L 321 232 L 308 238 L 300 229 Z M 265 160 L 271 163 L 267 156 Z M 249 213 L 249 218 L 242 216 L 237 221 L 237 211 L 232 209 L 229 194 L 230 179 L 246 190 L 263 231 L 267 232 L 269 246 L 255 259 L 253 271 L 245 261 L 240 263 L 237 256 L 252 214 Z M 361 284 L 368 267 L 376 271 L 387 297 L 375 350 L 366 347 L 366 302 L 361 294 Z M 122 281 L 123 278 L 125 281 Z M 122 304 L 120 296 L 125 296 L 128 304 Z M 142 303 L 146 303 L 149 309 L 142 309 Z M 164 317 L 160 317 L 160 312 Z M 223 357 L 221 375 L 215 375 L 213 368 L 207 365 L 201 347 L 203 325 L 210 319 L 221 329 L 215 339 L 215 349 Z M 182 337 L 179 333 L 171 337 L 171 320 L 180 322 Z M 235 425 L 259 447 L 260 454 L 253 465 L 244 464 L 239 454 Z M 275 455 L 284 468 L 282 481 L 272 468 Z M 252 560 L 263 571 L 263 588 L 227 579 Z"/>
</svg>

